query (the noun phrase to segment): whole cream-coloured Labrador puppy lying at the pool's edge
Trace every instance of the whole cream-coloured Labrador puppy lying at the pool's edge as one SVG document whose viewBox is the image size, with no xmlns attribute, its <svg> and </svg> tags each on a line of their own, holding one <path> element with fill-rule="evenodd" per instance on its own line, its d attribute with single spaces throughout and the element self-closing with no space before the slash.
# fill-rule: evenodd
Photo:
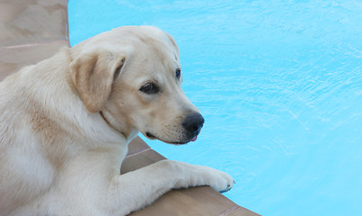
<svg viewBox="0 0 362 216">
<path fill-rule="evenodd" d="M 195 140 L 204 118 L 181 89 L 175 40 L 121 27 L 0 84 L 0 215 L 125 215 L 172 188 L 230 190 L 230 175 L 162 160 L 120 175 L 127 145 Z"/>
</svg>

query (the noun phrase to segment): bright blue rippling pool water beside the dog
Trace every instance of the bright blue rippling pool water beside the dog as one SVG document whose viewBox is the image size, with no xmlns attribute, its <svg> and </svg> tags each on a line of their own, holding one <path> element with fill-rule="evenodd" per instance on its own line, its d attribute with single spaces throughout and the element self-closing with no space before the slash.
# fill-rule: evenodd
<svg viewBox="0 0 362 216">
<path fill-rule="evenodd" d="M 203 112 L 162 155 L 213 166 L 225 193 L 263 215 L 362 215 L 362 2 L 70 0 L 72 45 L 155 25 L 180 48 L 184 89 Z"/>
</svg>

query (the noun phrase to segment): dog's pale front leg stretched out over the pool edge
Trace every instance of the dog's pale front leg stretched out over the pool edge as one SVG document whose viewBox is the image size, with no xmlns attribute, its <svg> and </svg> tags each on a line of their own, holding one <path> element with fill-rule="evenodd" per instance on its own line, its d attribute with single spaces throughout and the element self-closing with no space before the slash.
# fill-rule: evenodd
<svg viewBox="0 0 362 216">
<path fill-rule="evenodd" d="M 108 188 L 107 205 L 118 215 L 126 215 L 155 201 L 172 188 L 210 185 L 219 192 L 231 189 L 230 175 L 207 166 L 162 160 L 124 175 L 114 176 Z"/>
</svg>

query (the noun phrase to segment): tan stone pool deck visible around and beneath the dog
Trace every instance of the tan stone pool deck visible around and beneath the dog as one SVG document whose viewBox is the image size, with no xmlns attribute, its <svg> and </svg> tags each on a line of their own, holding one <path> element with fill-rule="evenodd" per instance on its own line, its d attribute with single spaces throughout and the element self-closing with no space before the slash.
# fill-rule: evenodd
<svg viewBox="0 0 362 216">
<path fill-rule="evenodd" d="M 23 66 L 50 58 L 69 46 L 68 0 L 0 0 L 0 80 Z M 122 173 L 148 166 L 165 157 L 140 137 L 133 139 Z M 211 187 L 172 190 L 130 215 L 257 216 Z"/>
</svg>

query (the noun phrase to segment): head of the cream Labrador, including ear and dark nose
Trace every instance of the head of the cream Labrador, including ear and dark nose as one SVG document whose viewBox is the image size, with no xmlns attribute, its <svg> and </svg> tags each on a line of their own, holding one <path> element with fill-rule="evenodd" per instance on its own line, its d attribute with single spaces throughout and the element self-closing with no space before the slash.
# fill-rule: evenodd
<svg viewBox="0 0 362 216">
<path fill-rule="evenodd" d="M 204 118 L 181 89 L 175 40 L 155 27 L 121 27 L 71 49 L 71 75 L 89 112 L 126 138 L 195 140 Z"/>
</svg>

